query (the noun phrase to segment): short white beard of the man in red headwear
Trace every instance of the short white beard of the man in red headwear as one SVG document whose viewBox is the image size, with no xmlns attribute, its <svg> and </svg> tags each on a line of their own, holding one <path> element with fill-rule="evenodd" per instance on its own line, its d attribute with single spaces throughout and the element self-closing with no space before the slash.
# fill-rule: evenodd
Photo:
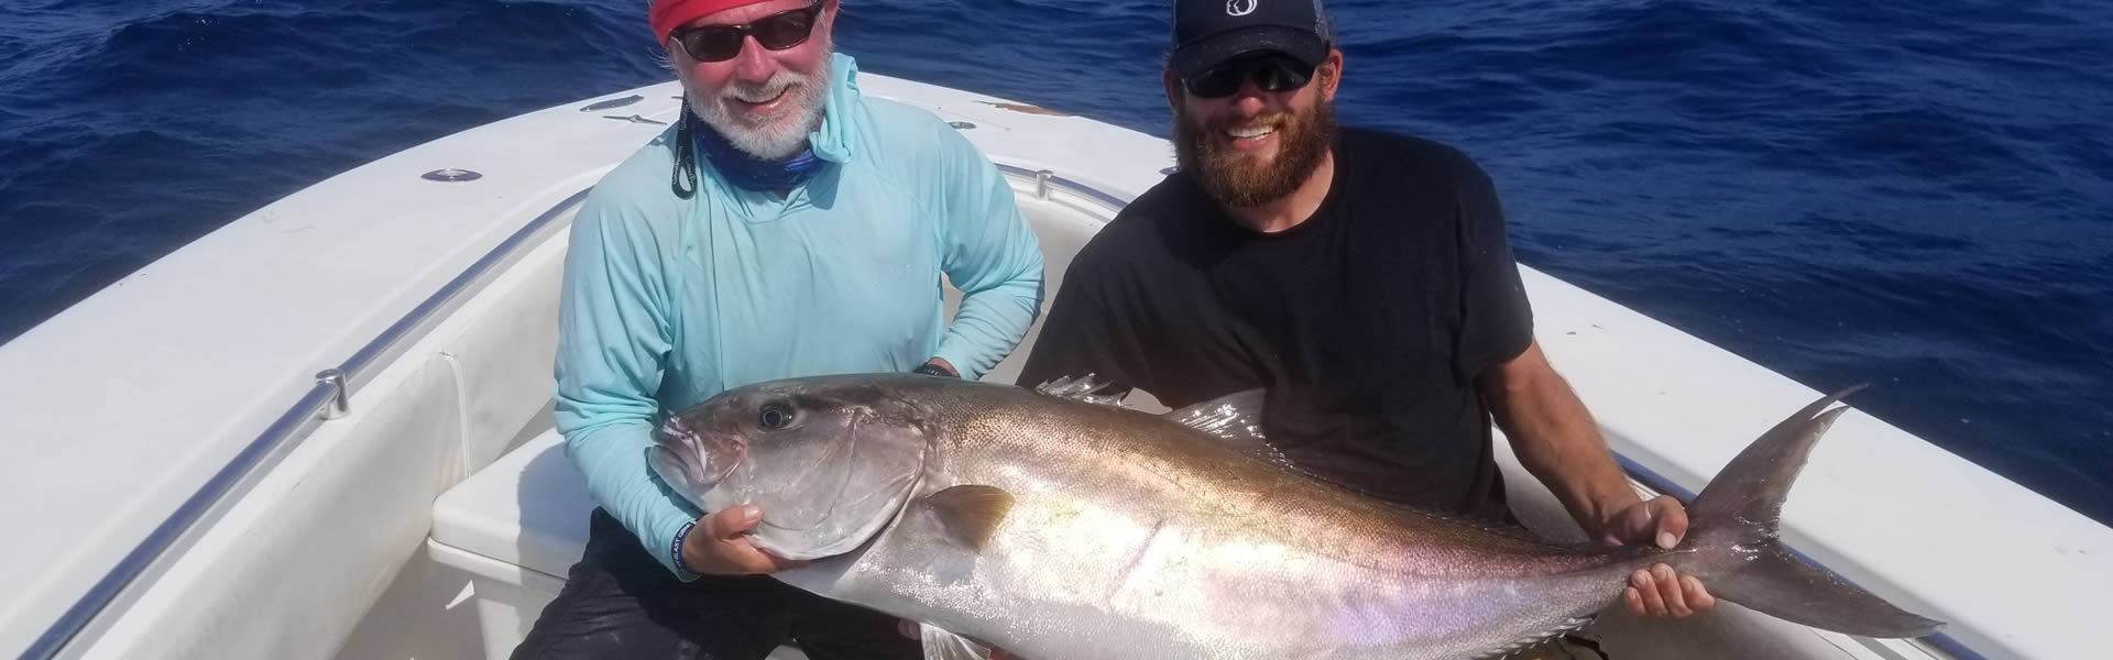
<svg viewBox="0 0 2113 660">
<path fill-rule="evenodd" d="M 733 148 L 763 161 L 784 161 L 807 148 L 807 135 L 822 127 L 824 99 L 828 97 L 830 57 L 822 55 L 822 68 L 814 76 L 799 76 L 780 70 L 761 85 L 729 82 L 718 95 L 691 93 L 689 108 L 708 127 L 725 135 Z M 786 106 L 775 116 L 759 125 L 737 118 L 729 108 L 737 99 L 763 102 L 786 93 Z"/>
</svg>

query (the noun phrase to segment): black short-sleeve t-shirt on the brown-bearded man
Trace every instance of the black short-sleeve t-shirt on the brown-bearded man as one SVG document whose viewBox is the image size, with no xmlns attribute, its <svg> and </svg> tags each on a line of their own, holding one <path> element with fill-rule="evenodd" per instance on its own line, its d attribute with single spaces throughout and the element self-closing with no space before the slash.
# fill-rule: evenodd
<svg viewBox="0 0 2113 660">
<path fill-rule="evenodd" d="M 1483 370 L 1532 341 L 1490 178 L 1437 142 L 1344 129 L 1306 222 L 1236 224 L 1173 173 L 1080 250 L 1021 385 L 1095 372 L 1179 408 L 1268 387 L 1264 432 L 1378 497 L 1504 518 Z"/>
</svg>

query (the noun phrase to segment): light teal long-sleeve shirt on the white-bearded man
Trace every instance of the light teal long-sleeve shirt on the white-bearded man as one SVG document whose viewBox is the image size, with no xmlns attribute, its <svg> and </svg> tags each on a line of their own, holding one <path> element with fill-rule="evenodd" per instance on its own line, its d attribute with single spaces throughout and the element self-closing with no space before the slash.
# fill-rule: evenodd
<svg viewBox="0 0 2113 660">
<path fill-rule="evenodd" d="M 674 127 L 617 165 L 573 220 L 558 313 L 556 423 L 596 503 L 670 571 L 699 514 L 649 468 L 666 415 L 805 374 L 997 366 L 1042 309 L 1042 250 L 997 167 L 938 116 L 860 97 L 835 55 L 828 161 L 790 195 L 708 163 L 678 199 Z M 961 290 L 951 324 L 942 279 Z"/>
</svg>

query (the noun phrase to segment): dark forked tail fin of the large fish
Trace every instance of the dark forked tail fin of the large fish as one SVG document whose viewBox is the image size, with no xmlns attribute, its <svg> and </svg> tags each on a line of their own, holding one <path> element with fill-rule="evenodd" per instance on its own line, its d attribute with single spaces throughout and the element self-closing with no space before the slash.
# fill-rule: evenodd
<svg viewBox="0 0 2113 660">
<path fill-rule="evenodd" d="M 1838 575 L 1815 569 L 1777 539 L 1777 522 L 1790 484 L 1805 468 L 1813 444 L 1849 408 L 1832 408 L 1851 387 L 1805 406 L 1754 440 L 1688 506 L 1693 552 L 1667 556 L 1676 569 L 1693 573 L 1712 594 L 1750 609 L 1845 635 L 1923 637 L 1944 622 L 1908 613 Z"/>
</svg>

